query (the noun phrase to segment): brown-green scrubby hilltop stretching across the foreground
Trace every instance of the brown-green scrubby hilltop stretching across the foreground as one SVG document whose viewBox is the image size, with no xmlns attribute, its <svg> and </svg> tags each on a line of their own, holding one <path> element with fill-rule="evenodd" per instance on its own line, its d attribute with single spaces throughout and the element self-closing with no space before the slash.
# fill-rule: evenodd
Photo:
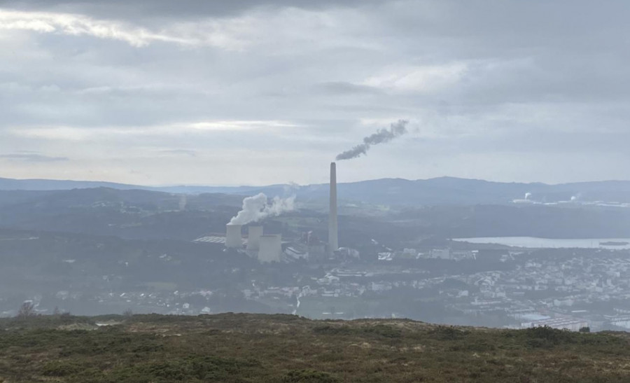
<svg viewBox="0 0 630 383">
<path fill-rule="evenodd" d="M 629 382 L 630 336 L 290 315 L 0 320 L 0 382 Z"/>
</svg>

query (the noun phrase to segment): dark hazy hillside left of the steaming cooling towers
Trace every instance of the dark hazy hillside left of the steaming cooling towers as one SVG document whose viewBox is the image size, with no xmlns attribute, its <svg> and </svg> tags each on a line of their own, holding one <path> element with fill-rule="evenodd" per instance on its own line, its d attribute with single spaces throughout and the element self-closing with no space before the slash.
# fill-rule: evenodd
<svg viewBox="0 0 630 383">
<path fill-rule="evenodd" d="M 242 199 L 113 188 L 0 190 L 0 227 L 191 240 L 225 230 Z"/>
</svg>

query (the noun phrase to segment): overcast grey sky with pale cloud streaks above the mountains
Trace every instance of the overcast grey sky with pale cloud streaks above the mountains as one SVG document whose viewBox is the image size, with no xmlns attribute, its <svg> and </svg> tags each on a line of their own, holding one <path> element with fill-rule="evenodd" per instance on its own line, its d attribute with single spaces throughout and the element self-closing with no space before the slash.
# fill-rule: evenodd
<svg viewBox="0 0 630 383">
<path fill-rule="evenodd" d="M 624 0 L 0 0 L 0 177 L 630 179 Z"/>
</svg>

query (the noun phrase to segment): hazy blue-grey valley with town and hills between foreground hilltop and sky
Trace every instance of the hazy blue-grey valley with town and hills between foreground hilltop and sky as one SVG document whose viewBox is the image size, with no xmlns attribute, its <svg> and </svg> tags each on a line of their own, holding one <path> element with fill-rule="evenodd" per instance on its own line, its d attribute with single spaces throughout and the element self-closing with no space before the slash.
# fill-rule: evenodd
<svg viewBox="0 0 630 383">
<path fill-rule="evenodd" d="M 43 189 L 0 190 L 4 316 L 27 300 L 42 314 L 281 312 L 497 327 L 535 319 L 594 330 L 625 323 L 624 182 L 339 183 L 335 251 L 326 244 L 328 185 L 3 185 Z M 225 247 L 230 222 L 244 225 L 242 247 L 240 239 Z M 277 258 L 246 250 L 253 225 L 281 236 Z"/>
</svg>

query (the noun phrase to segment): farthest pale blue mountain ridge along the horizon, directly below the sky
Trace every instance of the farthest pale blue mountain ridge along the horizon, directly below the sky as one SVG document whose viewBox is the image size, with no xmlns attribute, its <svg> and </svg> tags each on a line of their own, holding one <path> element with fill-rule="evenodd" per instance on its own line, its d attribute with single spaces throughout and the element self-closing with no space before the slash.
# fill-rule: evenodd
<svg viewBox="0 0 630 383">
<path fill-rule="evenodd" d="M 328 198 L 328 184 L 307 186 L 139 186 L 102 181 L 57 181 L 46 179 L 1 179 L 0 190 L 69 190 L 74 188 L 113 188 L 151 190 L 164 193 L 231 195 L 297 195 L 300 200 L 323 201 Z M 578 183 L 505 183 L 478 179 L 440 177 L 434 179 L 375 179 L 339 183 L 340 200 L 370 204 L 506 204 L 525 199 L 559 202 L 577 201 L 630 202 L 630 181 L 592 181 Z"/>
</svg>

